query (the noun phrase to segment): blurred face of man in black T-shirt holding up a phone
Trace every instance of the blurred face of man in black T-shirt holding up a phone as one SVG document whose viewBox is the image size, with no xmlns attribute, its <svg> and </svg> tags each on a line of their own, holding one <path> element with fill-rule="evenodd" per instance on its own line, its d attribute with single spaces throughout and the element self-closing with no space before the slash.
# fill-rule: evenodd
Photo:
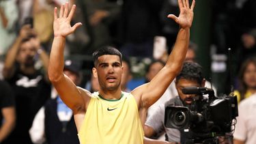
<svg viewBox="0 0 256 144">
<path fill-rule="evenodd" d="M 20 44 L 17 60 L 19 63 L 29 67 L 35 63 L 36 48 L 31 40 Z"/>
</svg>

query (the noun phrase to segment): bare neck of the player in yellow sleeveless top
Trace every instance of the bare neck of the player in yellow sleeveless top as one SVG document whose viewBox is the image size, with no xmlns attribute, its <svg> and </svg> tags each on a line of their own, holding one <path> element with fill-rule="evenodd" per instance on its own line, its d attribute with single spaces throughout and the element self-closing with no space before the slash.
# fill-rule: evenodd
<svg viewBox="0 0 256 144">
<path fill-rule="evenodd" d="M 119 100 L 121 98 L 122 91 L 121 89 L 113 90 L 113 91 L 104 91 L 100 89 L 100 96 L 106 100 Z"/>
</svg>

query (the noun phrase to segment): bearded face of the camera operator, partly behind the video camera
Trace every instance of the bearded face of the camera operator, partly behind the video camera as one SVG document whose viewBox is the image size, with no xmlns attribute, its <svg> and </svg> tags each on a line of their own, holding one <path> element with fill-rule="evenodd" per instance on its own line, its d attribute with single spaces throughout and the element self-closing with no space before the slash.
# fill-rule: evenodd
<svg viewBox="0 0 256 144">
<path fill-rule="evenodd" d="M 175 83 L 177 93 L 180 96 L 180 99 L 185 105 L 190 105 L 193 102 L 193 98 L 195 98 L 195 94 L 184 94 L 182 93 L 182 89 L 185 87 L 203 87 L 202 84 L 199 84 L 197 81 L 194 80 L 187 80 L 185 78 L 180 78 L 179 81 Z"/>
</svg>

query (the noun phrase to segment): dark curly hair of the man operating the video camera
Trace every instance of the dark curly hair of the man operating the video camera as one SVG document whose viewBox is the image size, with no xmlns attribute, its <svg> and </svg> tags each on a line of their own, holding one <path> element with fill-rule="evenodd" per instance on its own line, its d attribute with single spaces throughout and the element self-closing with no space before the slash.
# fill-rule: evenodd
<svg viewBox="0 0 256 144">
<path fill-rule="evenodd" d="M 182 71 L 176 76 L 176 82 L 181 78 L 197 81 L 197 83 L 201 84 L 204 78 L 202 67 L 195 62 L 185 62 Z"/>
</svg>

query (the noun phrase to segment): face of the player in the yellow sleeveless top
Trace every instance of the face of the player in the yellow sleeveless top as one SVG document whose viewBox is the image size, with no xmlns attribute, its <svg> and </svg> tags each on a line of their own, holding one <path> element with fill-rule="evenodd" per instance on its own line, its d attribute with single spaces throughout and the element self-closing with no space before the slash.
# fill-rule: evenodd
<svg viewBox="0 0 256 144">
<path fill-rule="evenodd" d="M 101 89 L 115 90 L 120 87 L 123 68 L 117 55 L 98 57 L 97 66 L 93 70 Z"/>
</svg>

